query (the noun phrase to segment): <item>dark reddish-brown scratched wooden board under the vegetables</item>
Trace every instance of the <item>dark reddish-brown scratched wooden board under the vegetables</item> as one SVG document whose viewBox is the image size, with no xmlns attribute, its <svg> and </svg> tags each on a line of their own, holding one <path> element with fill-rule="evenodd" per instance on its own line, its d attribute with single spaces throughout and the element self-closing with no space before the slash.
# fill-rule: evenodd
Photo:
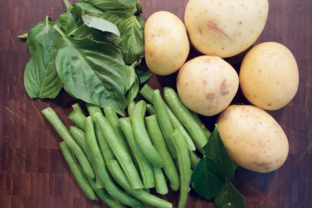
<svg viewBox="0 0 312 208">
<path fill-rule="evenodd" d="M 148 18 L 153 12 L 163 10 L 183 20 L 187 2 L 141 0 L 145 11 L 141 16 Z M 108 207 L 100 200 L 86 199 L 80 191 L 59 149 L 61 138 L 41 114 L 42 109 L 51 107 L 69 128 L 73 125 L 68 119 L 71 105 L 78 102 L 87 112 L 84 103 L 71 98 L 64 90 L 55 99 L 31 99 L 24 88 L 24 69 L 30 55 L 26 41 L 17 36 L 44 21 L 46 15 L 55 21 L 65 8 L 62 0 L 1 2 L 1 208 Z M 266 26 L 252 46 L 265 41 L 279 42 L 288 47 L 299 67 L 300 83 L 295 98 L 284 108 L 269 112 L 287 135 L 289 155 L 280 169 L 269 173 L 238 167 L 232 183 L 244 196 L 248 208 L 312 207 L 312 1 L 269 0 Z M 239 72 L 245 54 L 246 51 L 225 60 Z M 191 48 L 189 59 L 198 55 Z M 142 70 L 148 70 L 144 62 Z M 165 86 L 175 88 L 176 75 L 153 75 L 148 84 L 162 93 Z M 240 90 L 233 103 L 246 103 Z M 214 127 L 216 116 L 202 119 L 209 129 Z M 178 196 L 178 192 L 170 191 L 160 197 L 176 207 Z M 215 206 L 191 190 L 186 207 Z"/>
</svg>

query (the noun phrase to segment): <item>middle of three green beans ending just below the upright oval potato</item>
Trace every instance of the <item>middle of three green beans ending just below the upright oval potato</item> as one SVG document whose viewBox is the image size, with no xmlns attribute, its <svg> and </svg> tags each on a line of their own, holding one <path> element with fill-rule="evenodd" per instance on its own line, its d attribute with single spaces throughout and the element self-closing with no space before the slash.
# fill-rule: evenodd
<svg viewBox="0 0 312 208">
<path fill-rule="evenodd" d="M 165 104 L 160 95 L 159 89 L 155 89 L 152 94 L 155 113 L 158 119 L 159 127 L 163 134 L 163 138 L 167 144 L 168 150 L 172 158 L 177 158 L 177 153 L 173 147 L 172 141 L 169 137 L 169 133 L 173 130 L 169 115 L 167 114 Z"/>
</svg>

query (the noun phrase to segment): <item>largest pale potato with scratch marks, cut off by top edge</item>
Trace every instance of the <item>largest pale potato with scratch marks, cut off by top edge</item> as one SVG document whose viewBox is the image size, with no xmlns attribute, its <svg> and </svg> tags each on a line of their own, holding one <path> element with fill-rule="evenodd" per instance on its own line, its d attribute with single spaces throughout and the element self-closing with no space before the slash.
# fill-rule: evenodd
<svg viewBox="0 0 312 208">
<path fill-rule="evenodd" d="M 184 22 L 195 48 L 221 58 L 245 51 L 260 36 L 268 0 L 190 0 Z"/>
</svg>

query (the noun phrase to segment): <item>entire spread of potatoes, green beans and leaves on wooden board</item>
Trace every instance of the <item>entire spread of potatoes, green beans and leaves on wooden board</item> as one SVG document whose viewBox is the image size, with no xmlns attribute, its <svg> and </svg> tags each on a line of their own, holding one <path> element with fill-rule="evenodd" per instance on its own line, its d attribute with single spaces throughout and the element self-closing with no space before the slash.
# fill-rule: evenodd
<svg viewBox="0 0 312 208">
<path fill-rule="evenodd" d="M 222 59 L 256 41 L 266 22 L 267 0 L 190 0 L 186 26 L 164 11 L 145 22 L 137 0 L 64 2 L 66 12 L 56 22 L 46 17 L 20 36 L 27 38 L 31 55 L 25 88 L 32 98 L 55 98 L 64 87 L 85 101 L 88 115 L 73 105 L 68 118 L 76 125 L 69 130 L 53 109 L 42 110 L 63 139 L 61 151 L 85 195 L 110 207 L 171 208 L 171 202 L 150 192 L 165 195 L 171 189 L 179 191 L 177 207 L 183 208 L 192 187 L 218 208 L 245 207 L 230 180 L 238 166 L 269 172 L 283 165 L 287 137 L 263 109 L 285 106 L 299 82 L 293 55 L 277 43 L 254 47 L 239 75 Z M 225 20 L 222 11 L 231 18 Z M 245 13 L 252 18 L 245 21 Z M 204 54 L 187 62 L 186 30 Z M 136 69 L 143 58 L 157 75 L 179 70 L 178 92 L 167 86 L 162 96 L 147 84 L 139 90 L 152 75 Z M 286 78 L 279 76 L 281 69 Z M 283 83 L 290 83 L 289 89 Z M 254 105 L 230 105 L 239 85 Z M 138 93 L 144 99 L 137 100 Z M 212 133 L 198 114 L 219 114 Z"/>
</svg>

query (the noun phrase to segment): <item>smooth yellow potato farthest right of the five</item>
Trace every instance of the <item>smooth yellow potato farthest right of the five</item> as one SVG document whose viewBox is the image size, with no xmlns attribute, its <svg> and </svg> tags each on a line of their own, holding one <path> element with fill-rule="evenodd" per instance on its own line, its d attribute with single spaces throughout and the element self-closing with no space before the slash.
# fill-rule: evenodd
<svg viewBox="0 0 312 208">
<path fill-rule="evenodd" d="M 240 86 L 246 99 L 266 110 L 284 107 L 299 85 L 296 60 L 280 43 L 264 42 L 253 47 L 241 63 Z"/>
</svg>

